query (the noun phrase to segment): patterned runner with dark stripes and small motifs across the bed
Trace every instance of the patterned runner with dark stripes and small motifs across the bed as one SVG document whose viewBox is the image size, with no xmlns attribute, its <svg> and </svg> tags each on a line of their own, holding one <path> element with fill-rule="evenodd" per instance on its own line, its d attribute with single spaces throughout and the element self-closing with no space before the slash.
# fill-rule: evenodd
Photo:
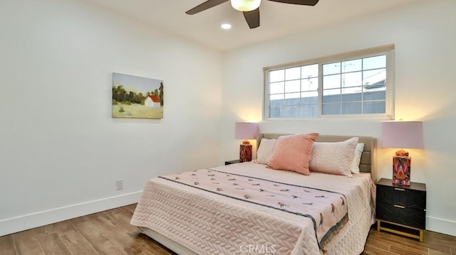
<svg viewBox="0 0 456 255">
<path fill-rule="evenodd" d="M 160 178 L 214 192 L 224 197 L 309 217 L 314 222 L 320 246 L 323 246 L 348 220 L 346 197 L 338 192 L 214 169 L 194 170 Z"/>
</svg>

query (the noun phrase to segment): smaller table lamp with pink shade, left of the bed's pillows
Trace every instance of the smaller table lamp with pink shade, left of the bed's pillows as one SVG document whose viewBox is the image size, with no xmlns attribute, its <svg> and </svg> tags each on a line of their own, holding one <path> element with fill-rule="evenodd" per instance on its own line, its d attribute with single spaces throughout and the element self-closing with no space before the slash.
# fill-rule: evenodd
<svg viewBox="0 0 456 255">
<path fill-rule="evenodd" d="M 248 139 L 257 139 L 257 123 L 237 122 L 235 126 L 236 139 L 242 139 L 239 148 L 239 162 L 252 161 L 252 144 Z"/>
</svg>

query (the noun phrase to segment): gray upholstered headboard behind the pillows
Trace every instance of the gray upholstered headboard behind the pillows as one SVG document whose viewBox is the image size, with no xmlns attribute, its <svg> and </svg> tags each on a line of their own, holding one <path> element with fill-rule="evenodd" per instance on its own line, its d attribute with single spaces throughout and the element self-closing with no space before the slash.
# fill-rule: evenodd
<svg viewBox="0 0 456 255">
<path fill-rule="evenodd" d="M 257 135 L 257 145 L 259 146 L 259 143 L 261 142 L 262 138 L 266 139 L 277 139 L 279 136 L 286 136 L 289 134 L 274 134 L 274 133 L 264 133 L 264 134 L 258 134 Z M 326 141 L 326 142 L 331 142 L 331 141 L 345 141 L 347 139 L 351 139 L 353 136 L 330 136 L 330 135 L 320 135 L 318 136 L 318 139 L 316 141 Z M 375 137 L 371 136 L 357 136 L 359 137 L 358 143 L 364 143 L 364 151 L 363 154 L 361 155 L 361 162 L 359 169 L 363 173 L 371 173 L 372 180 L 374 182 L 377 181 L 377 176 L 375 175 L 376 173 L 376 161 L 375 161 L 375 155 L 376 155 L 376 149 L 377 149 L 377 140 Z"/>
</svg>

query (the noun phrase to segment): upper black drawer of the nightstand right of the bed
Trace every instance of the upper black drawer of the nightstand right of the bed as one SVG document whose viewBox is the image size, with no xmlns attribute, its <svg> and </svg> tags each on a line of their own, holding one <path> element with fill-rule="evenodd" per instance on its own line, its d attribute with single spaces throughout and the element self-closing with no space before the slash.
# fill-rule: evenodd
<svg viewBox="0 0 456 255">
<path fill-rule="evenodd" d="M 416 210 L 426 209 L 426 192 L 408 188 L 377 186 L 377 201 Z"/>
</svg>

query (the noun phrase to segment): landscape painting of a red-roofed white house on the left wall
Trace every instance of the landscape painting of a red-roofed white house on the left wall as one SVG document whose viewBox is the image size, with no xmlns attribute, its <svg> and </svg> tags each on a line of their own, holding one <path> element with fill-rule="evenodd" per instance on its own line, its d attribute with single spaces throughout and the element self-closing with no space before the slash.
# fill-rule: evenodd
<svg viewBox="0 0 456 255">
<path fill-rule="evenodd" d="M 114 118 L 163 118 L 163 81 L 113 72 Z"/>
</svg>

